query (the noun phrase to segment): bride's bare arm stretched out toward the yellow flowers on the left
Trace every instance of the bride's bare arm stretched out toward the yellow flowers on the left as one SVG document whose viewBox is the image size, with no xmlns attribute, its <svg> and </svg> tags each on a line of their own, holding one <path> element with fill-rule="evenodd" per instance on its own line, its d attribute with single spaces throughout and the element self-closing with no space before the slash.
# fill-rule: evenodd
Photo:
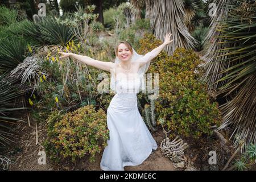
<svg viewBox="0 0 256 182">
<path fill-rule="evenodd" d="M 77 55 L 75 53 L 66 53 L 66 52 L 60 52 L 61 57 L 60 58 L 65 58 L 65 57 L 73 57 L 79 61 L 81 61 L 84 64 L 103 69 L 105 71 L 110 72 L 110 69 L 114 68 L 115 64 L 112 62 L 104 62 L 104 61 L 98 61 L 95 59 L 92 59 L 88 56 L 82 56 L 82 55 Z"/>
</svg>

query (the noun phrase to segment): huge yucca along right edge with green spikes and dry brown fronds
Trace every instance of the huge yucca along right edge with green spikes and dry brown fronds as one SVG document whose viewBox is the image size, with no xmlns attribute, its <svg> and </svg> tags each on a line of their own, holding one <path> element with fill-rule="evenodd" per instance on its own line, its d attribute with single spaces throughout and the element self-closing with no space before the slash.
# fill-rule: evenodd
<svg viewBox="0 0 256 182">
<path fill-rule="evenodd" d="M 240 135 L 247 145 L 256 141 L 256 3 L 215 2 L 222 7 L 222 18 L 216 25 L 215 43 L 204 56 L 205 78 L 210 89 L 228 100 L 220 106 L 224 121 L 219 129 L 231 127 L 232 136 Z M 208 35 L 213 34 L 210 30 Z"/>
</svg>

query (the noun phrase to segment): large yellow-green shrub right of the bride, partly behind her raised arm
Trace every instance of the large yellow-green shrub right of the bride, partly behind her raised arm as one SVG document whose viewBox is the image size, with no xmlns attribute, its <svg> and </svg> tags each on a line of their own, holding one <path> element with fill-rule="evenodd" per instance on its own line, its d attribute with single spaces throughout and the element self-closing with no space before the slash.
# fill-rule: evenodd
<svg viewBox="0 0 256 182">
<path fill-rule="evenodd" d="M 160 43 L 154 35 L 146 34 L 138 53 L 146 53 Z M 172 56 L 162 51 L 154 60 L 148 71 L 159 73 L 156 114 L 165 118 L 164 127 L 172 131 L 171 137 L 212 134 L 211 127 L 220 124 L 220 113 L 217 102 L 210 102 L 207 85 L 199 81 L 199 57 L 192 50 L 177 48 Z"/>
</svg>

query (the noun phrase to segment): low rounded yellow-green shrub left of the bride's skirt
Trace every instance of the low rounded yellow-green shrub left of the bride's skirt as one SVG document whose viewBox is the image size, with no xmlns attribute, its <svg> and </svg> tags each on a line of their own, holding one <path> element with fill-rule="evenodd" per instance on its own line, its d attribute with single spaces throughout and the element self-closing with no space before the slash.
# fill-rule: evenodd
<svg viewBox="0 0 256 182">
<path fill-rule="evenodd" d="M 86 155 L 94 161 L 109 139 L 106 114 L 102 109 L 94 110 L 92 105 L 67 114 L 53 111 L 47 119 L 47 128 L 44 147 L 49 158 L 56 162 L 61 159 L 75 162 Z"/>
</svg>

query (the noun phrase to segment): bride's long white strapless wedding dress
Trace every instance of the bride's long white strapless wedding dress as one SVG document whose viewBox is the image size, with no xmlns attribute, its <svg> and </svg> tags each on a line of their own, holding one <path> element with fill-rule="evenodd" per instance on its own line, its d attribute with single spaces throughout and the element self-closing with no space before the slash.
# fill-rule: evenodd
<svg viewBox="0 0 256 182">
<path fill-rule="evenodd" d="M 115 84 L 122 90 L 117 90 L 108 107 L 110 139 L 100 163 L 105 171 L 123 171 L 125 166 L 137 166 L 148 158 L 152 149 L 158 148 L 137 107 L 141 80 L 116 80 Z"/>
</svg>

